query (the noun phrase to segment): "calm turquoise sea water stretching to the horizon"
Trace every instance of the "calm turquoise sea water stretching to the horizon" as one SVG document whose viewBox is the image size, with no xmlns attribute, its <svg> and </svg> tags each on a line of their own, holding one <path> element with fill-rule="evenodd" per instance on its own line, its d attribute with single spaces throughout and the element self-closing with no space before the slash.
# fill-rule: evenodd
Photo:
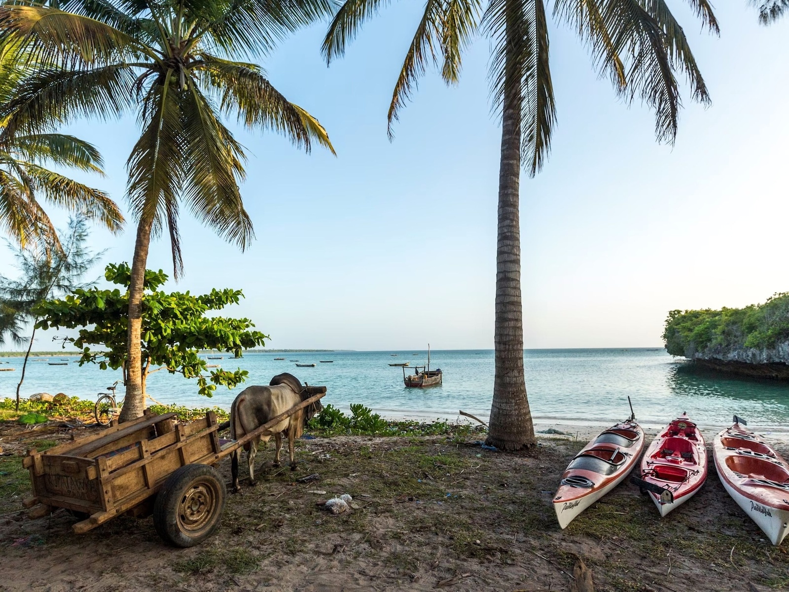
<svg viewBox="0 0 789 592">
<path fill-rule="evenodd" d="M 393 356 L 391 354 L 397 354 Z M 415 355 L 414 355 L 415 354 Z M 286 358 L 275 361 L 274 358 Z M 50 357 L 48 362 L 60 362 Z M 347 409 L 364 403 L 389 418 L 451 418 L 458 410 L 487 418 L 493 384 L 492 350 L 432 351 L 431 367 L 443 370 L 443 386 L 406 389 L 402 370 L 390 363 L 423 364 L 426 351 L 329 352 L 246 354 L 239 360 L 225 356 L 209 363 L 227 369 L 249 371 L 245 385 L 232 391 L 217 389 L 212 399 L 196 394 L 196 383 L 163 370 L 148 378 L 148 392 L 162 403 L 191 406 L 218 405 L 226 409 L 235 395 L 249 384 L 268 384 L 271 377 L 290 372 L 302 382 L 326 385 L 324 403 Z M 69 358 L 73 361 L 75 358 Z M 316 363 L 315 368 L 297 368 L 295 362 Z M 321 364 L 320 360 L 334 360 Z M 725 425 L 733 414 L 750 420 L 759 429 L 789 428 L 789 385 L 712 377 L 694 373 L 665 350 L 595 349 L 526 350 L 526 387 L 534 417 L 543 422 L 605 423 L 628 413 L 627 395 L 633 399 L 636 416 L 645 425 L 664 425 L 687 411 L 704 425 Z M 21 371 L 21 358 L 0 358 L 0 398 L 11 397 Z M 10 362 L 10 363 L 5 363 Z M 97 366 L 51 366 L 28 362 L 22 395 L 35 392 L 65 392 L 69 396 L 95 399 L 119 377 L 118 372 Z M 122 389 L 118 390 L 121 393 Z"/>
</svg>

